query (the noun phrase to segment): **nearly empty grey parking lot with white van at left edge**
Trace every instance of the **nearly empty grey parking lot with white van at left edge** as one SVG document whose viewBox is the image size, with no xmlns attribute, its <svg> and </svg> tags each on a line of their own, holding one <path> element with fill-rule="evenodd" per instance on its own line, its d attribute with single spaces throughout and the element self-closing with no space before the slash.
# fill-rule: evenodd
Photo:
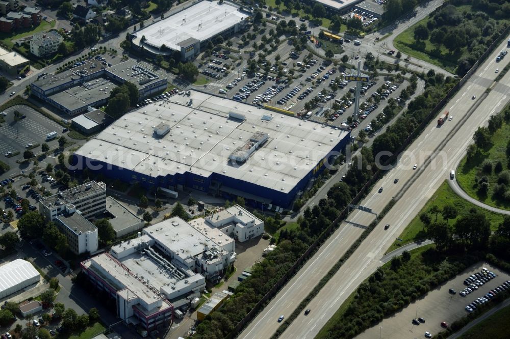
<svg viewBox="0 0 510 339">
<path fill-rule="evenodd" d="M 14 111 L 18 110 L 21 114 L 21 119 L 16 123 L 14 121 Z M 25 105 L 16 105 L 7 108 L 4 117 L 5 123 L 0 127 L 0 154 L 5 157 L 7 152 L 21 152 L 20 155 L 12 157 L 20 158 L 29 144 L 42 144 L 46 142 L 46 134 L 56 131 L 58 135 L 62 133 L 62 126 L 42 116 L 33 108 Z M 24 118 L 23 118 L 24 117 Z M 58 138 L 46 142 L 48 145 L 58 145 Z M 50 146 L 52 148 L 52 146 Z M 33 150 L 35 155 L 41 154 L 40 148 Z M 9 162 L 8 158 L 3 159 L 4 162 Z M 15 160 L 15 159 L 14 159 Z"/>
</svg>

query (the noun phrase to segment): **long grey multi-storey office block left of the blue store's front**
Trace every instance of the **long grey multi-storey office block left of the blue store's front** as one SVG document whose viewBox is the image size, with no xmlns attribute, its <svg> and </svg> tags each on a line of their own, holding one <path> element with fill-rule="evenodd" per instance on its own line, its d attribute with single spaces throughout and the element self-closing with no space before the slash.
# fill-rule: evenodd
<svg viewBox="0 0 510 339">
<path fill-rule="evenodd" d="M 39 213 L 49 221 L 64 214 L 66 206 L 72 205 L 84 218 L 91 218 L 106 210 L 106 185 L 90 181 L 83 185 L 43 197 L 39 201 Z"/>
</svg>

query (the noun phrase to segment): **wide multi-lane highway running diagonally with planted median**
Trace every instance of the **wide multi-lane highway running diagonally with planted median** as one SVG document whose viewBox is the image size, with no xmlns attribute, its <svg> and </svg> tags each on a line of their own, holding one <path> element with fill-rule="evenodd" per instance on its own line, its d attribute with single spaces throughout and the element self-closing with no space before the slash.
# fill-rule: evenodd
<svg viewBox="0 0 510 339">
<path fill-rule="evenodd" d="M 433 151 L 452 133 L 453 128 L 464 117 L 476 100 L 482 99 L 486 89 L 491 86 L 497 74 L 497 68 L 502 69 L 508 62 L 495 63 L 496 55 L 506 45 L 501 44 L 489 59 L 480 66 L 469 79 L 461 91 L 447 104 L 446 109 L 453 116 L 443 126 L 437 127 L 433 120 L 424 132 L 409 147 L 409 151 L 400 157 L 396 167 L 382 178 L 361 205 L 378 212 L 395 196 L 407 180 L 416 176 L 410 188 L 403 193 L 395 206 L 383 218 L 379 226 L 372 231 L 368 238 L 360 245 L 353 255 L 344 263 L 333 278 L 310 302 L 306 308 L 312 309 L 308 316 L 300 315 L 283 333 L 284 338 L 312 338 L 335 313 L 342 302 L 356 289 L 356 287 L 370 275 L 379 265 L 379 259 L 394 239 L 403 231 L 406 225 L 424 206 L 429 197 L 441 183 L 447 179 L 450 167 L 458 158 L 464 156 L 467 145 L 472 140 L 475 129 L 487 121 L 495 111 L 503 108 L 507 101 L 510 75 L 507 74 L 497 83 L 492 91 L 480 103 L 476 112 L 455 133 L 454 137 L 444 145 L 443 152 L 433 158 L 429 165 L 422 167 Z M 413 165 L 418 164 L 416 170 Z M 355 164 L 353 164 L 355 165 Z M 395 179 L 398 183 L 394 183 Z M 379 187 L 383 191 L 378 193 Z M 374 215 L 362 211 L 354 211 L 343 222 L 333 236 L 317 251 L 311 260 L 294 276 L 269 305 L 257 316 L 241 333 L 241 338 L 270 337 L 279 326 L 277 318 L 281 315 L 289 316 L 297 305 L 315 287 L 319 279 L 327 273 L 343 255 L 350 244 L 363 232 L 363 226 L 368 225 Z M 385 231 L 382 225 L 390 224 Z"/>
</svg>

